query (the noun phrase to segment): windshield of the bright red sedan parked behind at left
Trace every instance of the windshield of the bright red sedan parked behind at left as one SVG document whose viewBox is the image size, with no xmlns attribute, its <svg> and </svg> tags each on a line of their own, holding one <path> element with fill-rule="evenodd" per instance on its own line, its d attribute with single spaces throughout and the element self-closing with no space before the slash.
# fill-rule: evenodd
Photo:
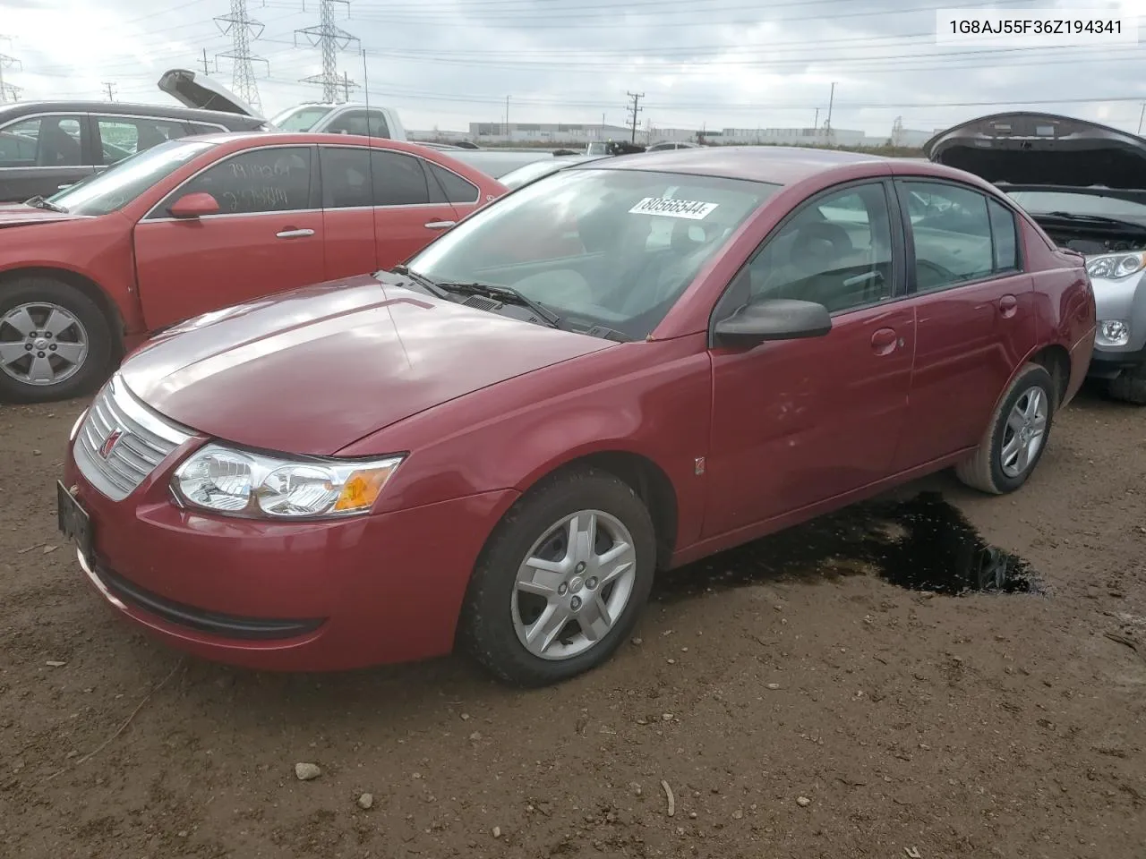
<svg viewBox="0 0 1146 859">
<path fill-rule="evenodd" d="M 202 140 L 168 140 L 125 158 L 102 173 L 48 198 L 71 214 L 101 215 L 123 208 L 160 179 L 217 145 Z"/>
</svg>

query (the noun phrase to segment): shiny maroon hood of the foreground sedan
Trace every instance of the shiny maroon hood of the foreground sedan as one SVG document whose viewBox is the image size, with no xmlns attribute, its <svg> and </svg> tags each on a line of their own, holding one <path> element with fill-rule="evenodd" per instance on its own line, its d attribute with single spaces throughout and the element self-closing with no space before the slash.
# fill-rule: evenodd
<svg viewBox="0 0 1146 859">
<path fill-rule="evenodd" d="M 362 276 L 205 314 L 127 357 L 127 387 L 223 441 L 330 455 L 390 424 L 610 341 Z"/>
</svg>

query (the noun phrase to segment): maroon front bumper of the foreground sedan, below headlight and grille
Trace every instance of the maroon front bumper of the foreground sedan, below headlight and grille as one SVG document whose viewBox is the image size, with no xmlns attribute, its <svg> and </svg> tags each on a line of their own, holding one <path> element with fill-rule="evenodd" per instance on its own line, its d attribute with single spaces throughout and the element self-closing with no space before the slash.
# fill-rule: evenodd
<svg viewBox="0 0 1146 859">
<path fill-rule="evenodd" d="M 80 566 L 121 616 L 167 645 L 252 669 L 336 671 L 449 653 L 470 574 L 513 490 L 336 522 L 180 510 L 141 488 L 121 502 L 69 457 L 91 517 Z"/>
</svg>

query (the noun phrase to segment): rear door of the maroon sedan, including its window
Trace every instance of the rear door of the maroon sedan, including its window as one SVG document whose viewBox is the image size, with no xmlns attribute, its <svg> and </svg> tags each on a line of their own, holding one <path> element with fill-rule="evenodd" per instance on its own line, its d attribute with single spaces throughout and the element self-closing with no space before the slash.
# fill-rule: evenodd
<svg viewBox="0 0 1146 859">
<path fill-rule="evenodd" d="M 908 221 L 916 360 L 897 471 L 979 443 L 1036 342 L 1033 278 L 1015 215 L 970 186 L 897 179 Z"/>
</svg>

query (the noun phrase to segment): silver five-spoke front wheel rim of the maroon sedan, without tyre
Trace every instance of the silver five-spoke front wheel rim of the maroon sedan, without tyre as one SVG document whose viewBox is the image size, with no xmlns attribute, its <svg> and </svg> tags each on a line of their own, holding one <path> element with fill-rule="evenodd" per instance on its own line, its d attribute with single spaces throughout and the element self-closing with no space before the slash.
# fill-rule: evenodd
<svg viewBox="0 0 1146 859">
<path fill-rule="evenodd" d="M 567 660 L 601 641 L 636 582 L 633 535 L 619 519 L 582 510 L 555 522 L 518 567 L 513 629 L 534 656 Z"/>
</svg>

